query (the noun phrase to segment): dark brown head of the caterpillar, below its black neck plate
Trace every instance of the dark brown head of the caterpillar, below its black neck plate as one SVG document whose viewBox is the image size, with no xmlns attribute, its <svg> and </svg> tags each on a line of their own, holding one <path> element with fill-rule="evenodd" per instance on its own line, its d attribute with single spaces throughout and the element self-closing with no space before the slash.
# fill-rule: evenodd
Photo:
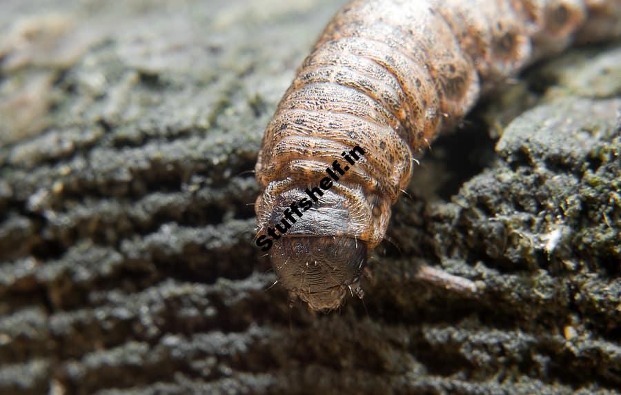
<svg viewBox="0 0 621 395">
<path fill-rule="evenodd" d="M 283 236 L 271 254 L 278 280 L 311 310 L 334 310 L 348 292 L 362 298 L 366 243 L 349 237 Z"/>
</svg>

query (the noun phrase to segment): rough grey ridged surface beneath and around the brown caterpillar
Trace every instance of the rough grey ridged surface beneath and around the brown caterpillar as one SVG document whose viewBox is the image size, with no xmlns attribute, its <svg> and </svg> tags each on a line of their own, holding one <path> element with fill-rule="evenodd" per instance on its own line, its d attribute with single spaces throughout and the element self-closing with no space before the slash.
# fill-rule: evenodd
<svg viewBox="0 0 621 395">
<path fill-rule="evenodd" d="M 342 1 L 280 3 L 0 5 L 0 393 L 615 393 L 621 47 L 535 65 L 442 136 L 364 303 L 311 314 L 270 287 L 250 171 Z"/>
</svg>

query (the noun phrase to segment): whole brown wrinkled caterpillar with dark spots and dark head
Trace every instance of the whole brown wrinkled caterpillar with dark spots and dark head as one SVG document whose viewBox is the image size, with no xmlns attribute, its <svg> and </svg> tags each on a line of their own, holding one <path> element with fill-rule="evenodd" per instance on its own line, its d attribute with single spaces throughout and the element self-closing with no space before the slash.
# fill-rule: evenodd
<svg viewBox="0 0 621 395">
<path fill-rule="evenodd" d="M 256 241 L 273 247 L 278 281 L 311 310 L 339 307 L 348 290 L 362 297 L 359 277 L 413 154 L 524 66 L 572 42 L 619 36 L 620 17 L 620 0 L 348 3 L 297 70 L 259 151 L 257 228 L 270 237 Z M 355 146 L 364 159 L 303 216 L 290 214 Z"/>
</svg>

